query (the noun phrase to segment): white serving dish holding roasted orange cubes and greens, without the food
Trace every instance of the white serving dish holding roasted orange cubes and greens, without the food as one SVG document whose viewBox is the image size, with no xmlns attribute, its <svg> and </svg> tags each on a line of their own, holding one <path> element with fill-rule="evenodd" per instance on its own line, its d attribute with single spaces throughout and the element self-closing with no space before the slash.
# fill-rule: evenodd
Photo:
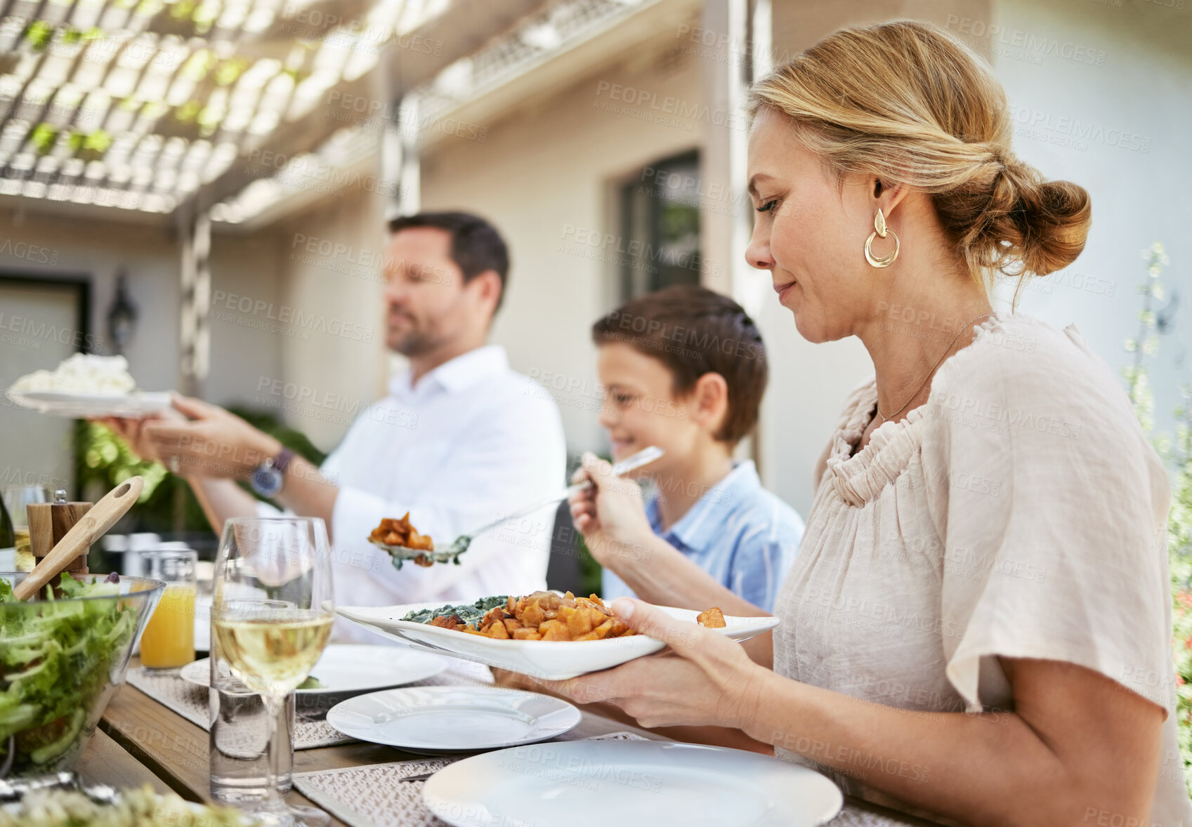
<svg viewBox="0 0 1192 827">
<path fill-rule="evenodd" d="M 547 680 L 566 680 L 588 672 L 619 666 L 634 658 L 652 654 L 665 643 L 646 635 L 609 640 L 493 640 L 437 626 L 402 620 L 411 611 L 437 609 L 437 603 L 409 603 L 389 607 L 336 607 L 335 611 L 373 632 L 405 641 L 433 652 L 443 652 L 465 660 L 522 672 Z M 695 622 L 699 611 L 659 607 L 671 617 Z M 778 624 L 777 617 L 730 617 L 727 628 L 716 629 L 733 640 L 747 640 Z"/>
</svg>

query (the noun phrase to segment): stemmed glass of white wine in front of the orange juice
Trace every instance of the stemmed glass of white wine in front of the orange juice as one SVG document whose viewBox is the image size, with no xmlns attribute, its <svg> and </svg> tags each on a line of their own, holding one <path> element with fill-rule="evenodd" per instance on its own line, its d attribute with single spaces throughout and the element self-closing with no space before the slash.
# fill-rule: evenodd
<svg viewBox="0 0 1192 827">
<path fill-rule="evenodd" d="M 280 736 L 277 720 L 286 696 L 310 674 L 331 635 L 329 551 L 327 526 L 317 517 L 235 517 L 224 523 L 211 642 L 232 674 L 260 692 L 271 745 Z M 246 809 L 269 827 L 327 825 L 325 813 L 291 807 L 278 791 L 277 759 L 290 750 L 290 744 L 269 750 L 265 798 Z"/>
</svg>

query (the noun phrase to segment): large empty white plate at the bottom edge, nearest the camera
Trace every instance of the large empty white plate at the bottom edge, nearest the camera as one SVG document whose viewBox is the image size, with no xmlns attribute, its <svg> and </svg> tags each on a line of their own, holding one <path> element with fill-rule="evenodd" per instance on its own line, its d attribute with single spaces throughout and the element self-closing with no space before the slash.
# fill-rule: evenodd
<svg viewBox="0 0 1192 827">
<path fill-rule="evenodd" d="M 422 788 L 455 827 L 814 827 L 844 796 L 805 766 L 666 741 L 563 741 L 455 761 Z"/>
</svg>

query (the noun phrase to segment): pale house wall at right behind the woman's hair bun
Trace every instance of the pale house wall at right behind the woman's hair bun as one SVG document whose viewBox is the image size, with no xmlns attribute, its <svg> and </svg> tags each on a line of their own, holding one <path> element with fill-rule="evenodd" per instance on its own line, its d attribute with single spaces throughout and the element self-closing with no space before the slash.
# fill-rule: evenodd
<svg viewBox="0 0 1192 827">
<path fill-rule="evenodd" d="M 1130 363 L 1123 343 L 1138 334 L 1137 286 L 1146 278 L 1140 251 L 1163 242 L 1172 263 L 1162 276 L 1167 293 L 1155 306 L 1184 305 L 1147 361 L 1156 427 L 1171 430 L 1180 386 L 1192 383 L 1182 362 L 1184 343 L 1192 341 L 1192 12 L 1130 0 L 1006 0 L 988 23 L 1001 33 L 981 36 L 976 19 L 951 27 L 992 54 L 1010 99 L 1017 154 L 1047 178 L 1084 186 L 1093 204 L 1085 251 L 1024 291 L 1019 307 L 1055 325 L 1075 323 L 1115 369 Z"/>
</svg>

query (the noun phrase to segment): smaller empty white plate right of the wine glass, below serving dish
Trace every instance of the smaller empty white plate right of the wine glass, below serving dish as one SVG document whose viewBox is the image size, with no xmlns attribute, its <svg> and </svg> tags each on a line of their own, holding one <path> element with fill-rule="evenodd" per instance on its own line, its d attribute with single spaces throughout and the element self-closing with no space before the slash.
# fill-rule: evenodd
<svg viewBox="0 0 1192 827">
<path fill-rule="evenodd" d="M 343 701 L 327 722 L 344 735 L 410 752 L 477 752 L 557 738 L 579 723 L 579 710 L 517 689 L 409 686 Z"/>
</svg>

